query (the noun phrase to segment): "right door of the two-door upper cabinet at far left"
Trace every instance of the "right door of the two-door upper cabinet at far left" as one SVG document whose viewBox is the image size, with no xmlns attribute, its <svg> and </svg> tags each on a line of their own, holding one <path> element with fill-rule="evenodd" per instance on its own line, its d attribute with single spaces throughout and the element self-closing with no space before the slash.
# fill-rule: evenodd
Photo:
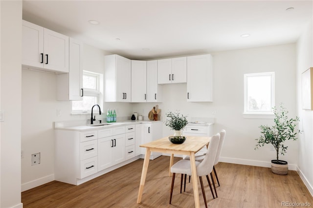
<svg viewBox="0 0 313 208">
<path fill-rule="evenodd" d="M 44 28 L 44 68 L 68 72 L 69 38 Z"/>
</svg>

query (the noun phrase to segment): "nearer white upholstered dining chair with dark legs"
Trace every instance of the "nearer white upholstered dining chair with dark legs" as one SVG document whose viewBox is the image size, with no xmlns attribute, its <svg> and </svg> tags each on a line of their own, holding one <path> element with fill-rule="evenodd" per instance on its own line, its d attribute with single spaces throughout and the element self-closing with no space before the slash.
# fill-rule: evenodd
<svg viewBox="0 0 313 208">
<path fill-rule="evenodd" d="M 211 179 L 213 181 L 212 171 L 213 171 L 213 166 L 214 166 L 214 162 L 215 162 L 217 149 L 219 146 L 219 141 L 220 141 L 220 133 L 217 133 L 214 136 L 212 136 L 210 143 L 209 143 L 209 146 L 207 148 L 207 152 L 206 152 L 205 157 L 202 160 L 202 162 L 195 161 L 196 162 L 196 168 L 197 168 L 197 176 L 199 176 L 199 179 L 200 179 L 202 195 L 203 195 L 203 199 L 204 199 L 204 203 L 205 203 L 206 208 L 207 208 L 207 203 L 206 203 L 205 191 L 204 191 L 203 182 L 202 182 L 202 176 L 206 176 L 207 182 L 208 182 L 209 187 L 211 189 L 213 199 L 215 199 L 214 193 L 212 190 L 212 186 L 211 186 L 211 182 L 210 182 L 208 175 L 209 174 L 211 175 Z M 172 203 L 172 195 L 173 195 L 175 175 L 176 175 L 176 173 L 181 174 L 181 181 L 180 181 L 180 193 L 181 193 L 183 175 L 184 174 L 191 175 L 190 161 L 189 160 L 180 160 L 179 162 L 177 162 L 176 164 L 174 164 L 171 167 L 171 173 L 173 173 L 173 178 L 172 178 L 172 185 L 171 185 L 170 204 Z M 213 187 L 214 187 L 215 194 L 217 197 L 217 192 L 216 192 L 214 182 L 213 182 Z"/>
</svg>

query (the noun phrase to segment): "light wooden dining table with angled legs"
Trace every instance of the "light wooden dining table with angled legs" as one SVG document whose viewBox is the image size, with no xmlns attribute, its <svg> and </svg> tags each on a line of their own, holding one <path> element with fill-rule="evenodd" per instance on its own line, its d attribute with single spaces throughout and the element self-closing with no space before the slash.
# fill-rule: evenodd
<svg viewBox="0 0 313 208">
<path fill-rule="evenodd" d="M 186 136 L 186 141 L 182 144 L 173 144 L 169 141 L 168 137 L 164 137 L 147 144 L 140 145 L 140 147 L 146 147 L 146 154 L 143 161 L 141 179 L 138 191 L 137 203 L 141 203 L 141 197 L 143 193 L 143 188 L 146 181 L 150 153 L 151 152 L 161 152 L 171 154 L 169 176 L 171 176 L 171 167 L 174 163 L 174 154 L 188 155 L 190 157 L 191 166 L 191 178 L 193 183 L 194 198 L 196 208 L 200 207 L 199 202 L 199 191 L 197 182 L 197 169 L 195 163 L 195 153 L 198 152 L 203 146 L 208 146 L 210 142 L 210 137 L 200 137 L 200 136 Z"/>
</svg>

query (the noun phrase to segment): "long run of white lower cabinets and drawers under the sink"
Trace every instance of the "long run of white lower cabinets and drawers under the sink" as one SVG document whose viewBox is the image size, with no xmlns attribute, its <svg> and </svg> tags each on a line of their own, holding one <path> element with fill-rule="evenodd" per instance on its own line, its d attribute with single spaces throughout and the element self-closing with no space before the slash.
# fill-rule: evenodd
<svg viewBox="0 0 313 208">
<path fill-rule="evenodd" d="M 145 154 L 143 143 L 162 137 L 162 122 L 107 126 L 97 130 L 55 130 L 56 181 L 80 185 Z M 153 152 L 150 159 L 160 156 Z"/>
</svg>

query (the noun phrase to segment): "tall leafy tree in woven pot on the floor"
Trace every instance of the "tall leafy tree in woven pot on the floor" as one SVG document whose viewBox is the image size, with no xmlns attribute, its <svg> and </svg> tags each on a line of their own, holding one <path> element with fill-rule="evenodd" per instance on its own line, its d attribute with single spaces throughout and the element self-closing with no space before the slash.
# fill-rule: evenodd
<svg viewBox="0 0 313 208">
<path fill-rule="evenodd" d="M 285 155 L 288 146 L 284 146 L 286 140 L 297 140 L 297 134 L 300 130 L 295 129 L 298 125 L 299 118 L 296 116 L 294 119 L 289 119 L 287 114 L 288 110 L 280 105 L 279 109 L 273 107 L 273 112 L 275 115 L 274 125 L 261 125 L 260 138 L 256 139 L 257 145 L 254 149 L 258 149 L 260 146 L 265 144 L 271 144 L 276 150 L 276 159 L 271 161 L 271 169 L 273 173 L 280 175 L 288 174 L 288 162 L 279 160 L 279 153 Z"/>
</svg>

